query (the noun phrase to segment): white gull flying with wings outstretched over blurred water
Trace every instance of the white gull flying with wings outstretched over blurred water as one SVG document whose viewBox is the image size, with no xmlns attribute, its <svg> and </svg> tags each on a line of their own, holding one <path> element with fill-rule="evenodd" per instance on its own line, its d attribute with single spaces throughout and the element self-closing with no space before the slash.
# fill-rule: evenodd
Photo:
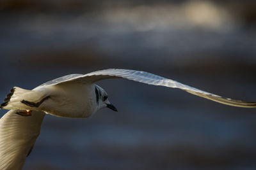
<svg viewBox="0 0 256 170">
<path fill-rule="evenodd" d="M 102 108 L 117 111 L 109 102 L 107 92 L 95 84 L 109 78 L 125 78 L 148 85 L 177 88 L 217 103 L 256 108 L 255 102 L 217 96 L 156 74 L 129 69 L 69 74 L 48 81 L 33 90 L 13 87 L 0 105 L 3 110 L 10 110 L 0 119 L 0 169 L 22 169 L 40 134 L 45 114 L 87 118 Z"/>
</svg>

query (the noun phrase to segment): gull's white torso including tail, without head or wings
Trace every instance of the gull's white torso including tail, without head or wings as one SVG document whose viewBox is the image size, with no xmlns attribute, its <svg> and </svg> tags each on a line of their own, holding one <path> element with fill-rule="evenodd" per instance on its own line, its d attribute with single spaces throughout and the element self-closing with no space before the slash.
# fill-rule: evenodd
<svg viewBox="0 0 256 170">
<path fill-rule="evenodd" d="M 45 85 L 33 90 L 13 87 L 13 97 L 8 107 L 13 110 L 44 111 L 57 117 L 86 118 L 97 111 L 97 100 L 94 83 L 63 83 Z M 30 101 L 30 104 L 24 104 Z M 33 106 L 31 103 L 40 103 Z"/>
</svg>

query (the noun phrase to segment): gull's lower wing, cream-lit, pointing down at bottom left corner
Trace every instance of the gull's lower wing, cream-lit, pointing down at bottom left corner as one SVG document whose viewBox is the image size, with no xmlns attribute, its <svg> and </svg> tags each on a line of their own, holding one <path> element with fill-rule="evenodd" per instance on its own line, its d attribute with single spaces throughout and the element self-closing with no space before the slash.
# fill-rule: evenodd
<svg viewBox="0 0 256 170">
<path fill-rule="evenodd" d="M 33 111 L 31 117 L 10 110 L 0 118 L 0 169 L 22 169 L 40 133 L 45 113 Z"/>
</svg>

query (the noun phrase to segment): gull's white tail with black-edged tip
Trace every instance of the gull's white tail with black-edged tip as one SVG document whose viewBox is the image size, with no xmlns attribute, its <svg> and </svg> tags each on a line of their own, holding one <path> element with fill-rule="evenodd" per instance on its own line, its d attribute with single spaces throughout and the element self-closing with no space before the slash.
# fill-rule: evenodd
<svg viewBox="0 0 256 170">
<path fill-rule="evenodd" d="M 36 110 L 31 109 L 36 107 L 33 104 L 38 104 L 44 98 L 42 92 L 35 90 L 21 89 L 13 87 L 10 93 L 7 94 L 4 102 L 0 105 L 0 109 L 4 110 Z"/>
</svg>

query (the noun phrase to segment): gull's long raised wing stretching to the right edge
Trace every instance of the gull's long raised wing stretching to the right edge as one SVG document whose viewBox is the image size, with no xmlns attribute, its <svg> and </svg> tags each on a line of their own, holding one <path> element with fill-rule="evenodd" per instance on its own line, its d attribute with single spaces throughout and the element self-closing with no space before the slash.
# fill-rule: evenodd
<svg viewBox="0 0 256 170">
<path fill-rule="evenodd" d="M 230 106 L 242 107 L 242 108 L 256 108 L 256 103 L 254 102 L 247 102 L 247 101 L 239 101 L 234 99 L 229 99 L 221 96 L 217 96 L 215 94 L 211 94 L 209 92 L 205 92 L 203 90 L 196 89 L 194 87 L 190 87 L 188 85 L 184 85 L 179 83 L 178 81 L 174 81 L 168 78 L 163 78 L 161 76 L 157 76 L 156 74 L 147 73 L 145 71 L 135 71 L 129 69 L 104 69 L 100 71 L 95 71 L 88 74 L 74 74 L 70 75 L 70 78 L 59 78 L 56 80 L 63 80 L 63 81 L 54 81 L 51 85 L 56 85 L 65 82 L 79 82 L 79 83 L 94 83 L 99 80 L 104 80 L 108 78 L 126 78 L 128 80 L 138 81 L 141 83 L 146 83 L 149 85 L 159 85 L 165 87 L 172 87 L 181 90 L 185 90 L 191 94 L 196 96 L 204 97 L 206 99 L 216 101 L 218 103 L 227 104 Z"/>
</svg>

